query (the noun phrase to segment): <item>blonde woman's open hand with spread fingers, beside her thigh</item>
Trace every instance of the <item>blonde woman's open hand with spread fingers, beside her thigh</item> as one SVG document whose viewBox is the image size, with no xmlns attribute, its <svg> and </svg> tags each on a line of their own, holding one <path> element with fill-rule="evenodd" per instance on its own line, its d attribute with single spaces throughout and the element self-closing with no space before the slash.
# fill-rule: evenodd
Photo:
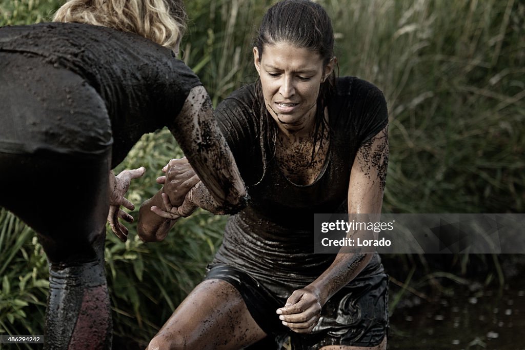
<svg viewBox="0 0 525 350">
<path fill-rule="evenodd" d="M 146 169 L 144 167 L 140 167 L 139 169 L 124 170 L 117 176 L 114 176 L 113 173 L 110 174 L 109 189 L 111 193 L 109 195 L 110 207 L 108 222 L 111 231 L 113 231 L 122 242 L 128 239 L 128 229 L 119 221 L 119 218 L 133 222 L 133 217 L 120 209 L 120 206 L 122 205 L 129 210 L 135 209 L 133 203 L 124 198 L 124 195 L 128 192 L 131 180 L 140 178 L 145 171 Z"/>
</svg>

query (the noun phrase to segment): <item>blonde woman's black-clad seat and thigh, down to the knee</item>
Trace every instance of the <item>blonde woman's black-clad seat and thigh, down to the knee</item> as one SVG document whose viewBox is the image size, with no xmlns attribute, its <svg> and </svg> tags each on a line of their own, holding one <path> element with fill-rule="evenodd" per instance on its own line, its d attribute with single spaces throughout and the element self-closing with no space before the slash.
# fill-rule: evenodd
<svg viewBox="0 0 525 350">
<path fill-rule="evenodd" d="M 0 81 L 0 205 L 37 231 L 51 262 L 92 259 L 109 209 L 104 101 L 36 56 L 0 52 Z"/>
</svg>

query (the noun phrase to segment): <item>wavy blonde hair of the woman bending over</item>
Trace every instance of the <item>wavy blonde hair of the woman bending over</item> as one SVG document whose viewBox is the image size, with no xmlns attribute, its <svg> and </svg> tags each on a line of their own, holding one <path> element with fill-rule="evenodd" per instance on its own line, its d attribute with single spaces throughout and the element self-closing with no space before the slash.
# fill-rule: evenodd
<svg viewBox="0 0 525 350">
<path fill-rule="evenodd" d="M 55 22 L 79 22 L 142 35 L 174 49 L 186 29 L 182 0 L 69 0 Z"/>
</svg>

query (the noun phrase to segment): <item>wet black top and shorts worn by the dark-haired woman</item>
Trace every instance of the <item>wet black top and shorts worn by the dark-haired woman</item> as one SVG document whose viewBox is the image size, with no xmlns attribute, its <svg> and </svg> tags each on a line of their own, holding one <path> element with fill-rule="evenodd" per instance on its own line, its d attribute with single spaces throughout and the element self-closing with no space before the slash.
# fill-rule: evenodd
<svg viewBox="0 0 525 350">
<path fill-rule="evenodd" d="M 355 77 L 338 79 L 337 93 L 328 101 L 327 158 L 317 179 L 300 186 L 283 174 L 275 158 L 267 159 L 263 172 L 259 110 L 253 85 L 234 92 L 216 110 L 250 199 L 244 210 L 228 219 L 223 244 L 211 264 L 226 265 L 235 272 L 212 269 L 207 278 L 217 276 L 236 286 L 257 323 L 275 335 L 283 328 L 275 310 L 335 259 L 335 254 L 313 253 L 313 214 L 348 212 L 350 171 L 356 152 L 387 125 L 388 114 L 378 88 Z M 238 271 L 248 277 L 238 277 Z M 257 293 L 268 295 L 258 298 Z M 379 254 L 374 254 L 363 271 L 323 307 L 316 334 L 292 334 L 294 348 L 380 344 L 388 324 L 386 304 L 387 276 Z M 267 316 L 260 315 L 266 311 Z M 276 322 L 268 321 L 274 319 Z"/>
</svg>

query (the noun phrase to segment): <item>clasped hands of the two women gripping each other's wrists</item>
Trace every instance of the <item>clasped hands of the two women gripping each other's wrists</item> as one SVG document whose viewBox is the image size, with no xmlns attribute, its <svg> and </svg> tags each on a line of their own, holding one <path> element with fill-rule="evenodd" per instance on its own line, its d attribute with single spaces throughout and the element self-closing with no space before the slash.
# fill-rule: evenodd
<svg viewBox="0 0 525 350">
<path fill-rule="evenodd" d="M 163 208 L 153 206 L 151 211 L 171 220 L 189 216 L 197 207 L 187 194 L 201 180 L 186 158 L 170 160 L 162 171 L 165 175 L 156 182 L 164 185 Z"/>
</svg>

